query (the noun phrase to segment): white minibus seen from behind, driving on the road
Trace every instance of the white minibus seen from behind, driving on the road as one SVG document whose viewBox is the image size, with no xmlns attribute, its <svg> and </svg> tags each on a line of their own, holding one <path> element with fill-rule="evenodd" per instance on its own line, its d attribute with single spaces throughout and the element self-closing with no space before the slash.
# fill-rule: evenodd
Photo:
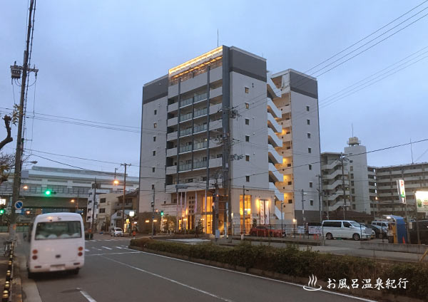
<svg viewBox="0 0 428 302">
<path fill-rule="evenodd" d="M 34 219 L 27 259 L 29 278 L 46 271 L 73 271 L 83 267 L 83 219 L 75 213 L 41 214 Z"/>
</svg>

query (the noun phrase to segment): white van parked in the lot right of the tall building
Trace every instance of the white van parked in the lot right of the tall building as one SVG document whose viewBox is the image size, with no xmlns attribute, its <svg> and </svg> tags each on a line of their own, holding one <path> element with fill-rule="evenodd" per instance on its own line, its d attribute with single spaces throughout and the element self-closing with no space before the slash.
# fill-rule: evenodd
<svg viewBox="0 0 428 302">
<path fill-rule="evenodd" d="M 327 239 L 350 238 L 354 240 L 370 239 L 372 229 L 353 220 L 325 220 L 322 222 L 322 234 Z"/>
</svg>

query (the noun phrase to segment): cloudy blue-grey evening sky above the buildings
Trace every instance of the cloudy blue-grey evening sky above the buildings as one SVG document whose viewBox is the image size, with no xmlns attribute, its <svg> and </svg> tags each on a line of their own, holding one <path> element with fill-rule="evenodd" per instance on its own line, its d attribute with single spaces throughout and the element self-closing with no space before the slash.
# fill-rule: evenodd
<svg viewBox="0 0 428 302">
<path fill-rule="evenodd" d="M 120 164 L 131 163 L 128 174 L 138 176 L 143 84 L 217 47 L 217 33 L 220 45 L 266 58 L 272 73 L 293 68 L 317 78 L 322 152 L 343 151 L 352 127 L 367 150 L 427 139 L 428 2 L 422 2 L 37 1 L 31 66 L 39 73 L 36 82 L 34 74 L 29 80 L 35 84 L 27 96 L 25 153 L 49 167 L 123 172 Z M 27 8 L 28 1 L 9 0 L 0 11 L 2 115 L 19 103 L 20 87 L 11 84 L 9 66 L 23 61 Z M 332 68 L 353 50 L 337 63 L 364 52 Z M 354 90 L 344 90 L 355 83 L 349 88 Z M 0 137 L 5 135 L 2 127 Z M 14 147 L 12 142 L 4 152 Z M 428 141 L 412 150 L 372 152 L 367 160 L 374 166 L 400 165 L 412 162 L 412 153 L 414 162 L 427 162 Z"/>
</svg>

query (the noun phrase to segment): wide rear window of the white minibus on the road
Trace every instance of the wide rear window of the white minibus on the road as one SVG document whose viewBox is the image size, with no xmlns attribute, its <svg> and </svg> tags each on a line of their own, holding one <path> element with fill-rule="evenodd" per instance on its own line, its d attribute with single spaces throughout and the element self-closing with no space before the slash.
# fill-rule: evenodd
<svg viewBox="0 0 428 302">
<path fill-rule="evenodd" d="M 81 238 L 80 222 L 39 222 L 36 240 Z"/>
</svg>

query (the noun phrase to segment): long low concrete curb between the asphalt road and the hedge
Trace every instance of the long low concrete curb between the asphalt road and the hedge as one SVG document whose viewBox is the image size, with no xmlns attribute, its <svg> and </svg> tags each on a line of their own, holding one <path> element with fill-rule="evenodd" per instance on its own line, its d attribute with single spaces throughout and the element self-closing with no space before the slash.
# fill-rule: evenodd
<svg viewBox="0 0 428 302">
<path fill-rule="evenodd" d="M 240 271 L 240 272 L 244 272 L 244 273 L 248 273 L 248 274 L 253 274 L 255 276 L 263 276 L 263 277 L 267 277 L 267 278 L 272 278 L 272 279 L 277 279 L 277 280 L 281 280 L 281 281 L 287 281 L 287 282 L 292 282 L 292 283 L 298 283 L 301 285 L 306 285 L 307 284 L 307 278 L 302 278 L 302 277 L 297 277 L 297 276 L 290 276 L 290 275 L 286 275 L 286 274 L 280 274 L 280 273 L 275 273 L 273 271 L 263 271 L 260 269 L 245 269 L 245 267 L 242 266 L 233 266 L 230 264 L 225 264 L 223 262 L 218 262 L 218 261 L 210 261 L 210 260 L 205 260 L 205 259 L 197 259 L 197 258 L 191 258 L 189 256 L 183 256 L 183 255 L 179 255 L 179 254 L 171 254 L 165 251 L 156 251 L 153 249 L 146 249 L 146 248 L 141 248 L 140 246 L 128 246 L 129 249 L 134 249 L 136 251 L 144 251 L 150 254 L 158 254 L 161 256 L 168 256 L 171 258 L 175 258 L 175 259 L 181 259 L 181 260 L 186 260 L 186 261 L 190 261 L 190 262 L 195 262 L 198 264 L 205 264 L 208 266 L 215 266 L 215 267 L 219 267 L 222 269 L 230 269 L 232 271 Z M 327 282 L 322 281 L 322 280 L 318 280 L 317 283 L 319 283 L 323 288 L 327 287 Z M 360 288 L 357 288 L 360 289 Z M 328 291 L 328 290 L 326 290 Z M 383 291 L 370 291 L 367 290 L 365 291 L 365 294 L 362 294 L 361 291 L 357 291 L 355 289 L 353 290 L 335 290 L 332 292 L 338 292 L 338 293 L 345 293 L 345 294 L 352 294 L 354 296 L 357 297 L 361 297 L 361 298 L 372 298 L 372 299 L 377 299 L 378 301 L 397 301 L 397 302 L 424 302 L 424 300 L 418 299 L 418 298 L 409 298 L 407 296 L 396 296 L 392 293 L 384 293 Z"/>
</svg>

